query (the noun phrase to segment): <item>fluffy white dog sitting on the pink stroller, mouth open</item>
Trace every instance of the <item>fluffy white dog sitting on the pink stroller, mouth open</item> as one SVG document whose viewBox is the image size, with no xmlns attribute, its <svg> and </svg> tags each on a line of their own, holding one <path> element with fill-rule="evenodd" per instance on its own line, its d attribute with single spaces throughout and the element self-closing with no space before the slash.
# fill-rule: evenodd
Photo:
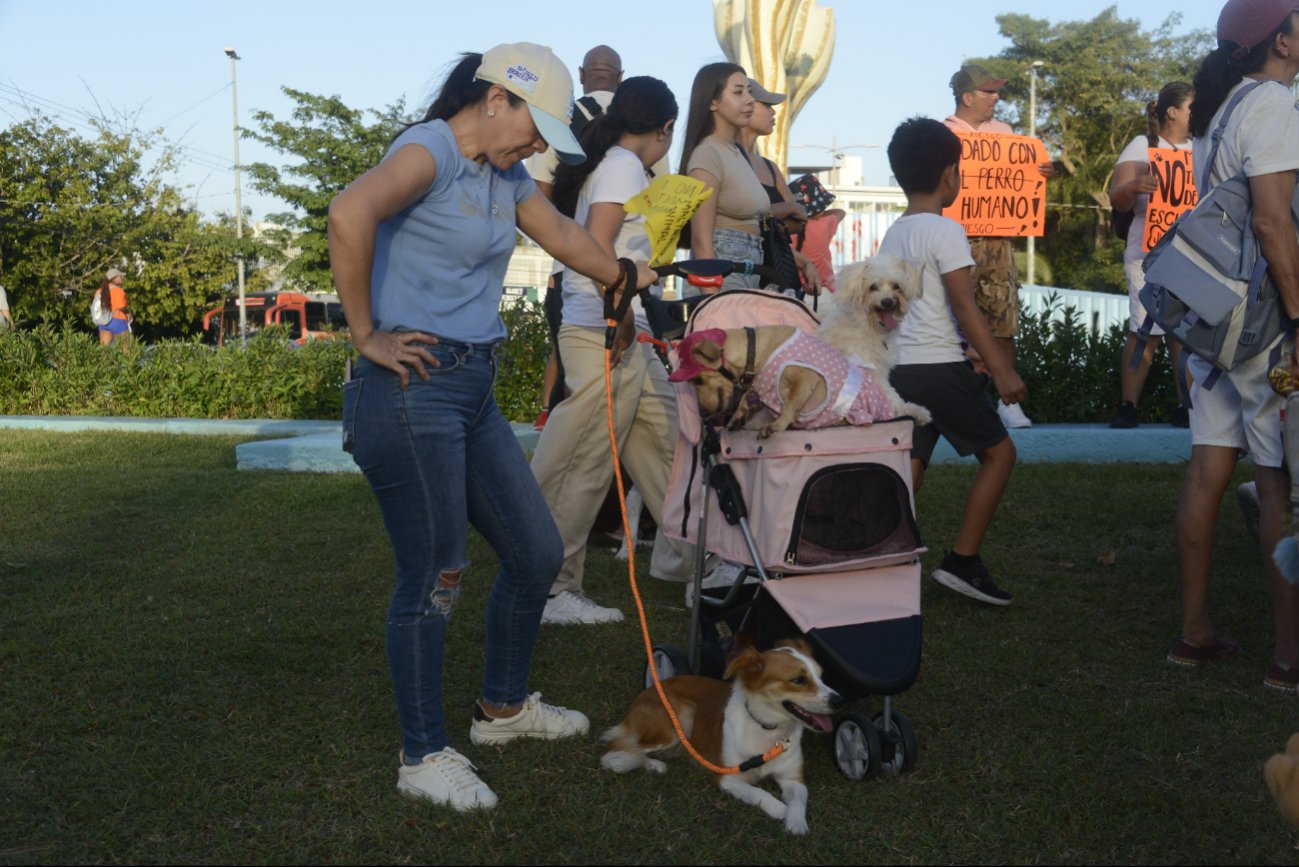
<svg viewBox="0 0 1299 867">
<path fill-rule="evenodd" d="M 874 370 L 895 416 L 911 416 L 917 425 L 927 425 L 929 409 L 903 400 L 889 385 L 898 328 L 922 289 L 921 265 L 896 256 L 876 256 L 844 265 L 835 274 L 835 283 L 838 290 L 827 296 L 834 302 L 816 335 Z"/>
</svg>

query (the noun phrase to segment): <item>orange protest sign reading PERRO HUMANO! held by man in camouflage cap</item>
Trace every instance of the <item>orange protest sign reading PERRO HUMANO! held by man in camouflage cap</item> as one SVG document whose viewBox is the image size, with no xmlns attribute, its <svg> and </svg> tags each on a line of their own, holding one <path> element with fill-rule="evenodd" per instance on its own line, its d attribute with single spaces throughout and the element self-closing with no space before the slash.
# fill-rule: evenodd
<svg viewBox="0 0 1299 867">
<path fill-rule="evenodd" d="M 1040 238 L 1047 182 L 1038 166 L 1048 161 L 1046 146 L 1004 133 L 956 135 L 961 139 L 961 191 L 943 216 L 976 238 Z"/>
</svg>

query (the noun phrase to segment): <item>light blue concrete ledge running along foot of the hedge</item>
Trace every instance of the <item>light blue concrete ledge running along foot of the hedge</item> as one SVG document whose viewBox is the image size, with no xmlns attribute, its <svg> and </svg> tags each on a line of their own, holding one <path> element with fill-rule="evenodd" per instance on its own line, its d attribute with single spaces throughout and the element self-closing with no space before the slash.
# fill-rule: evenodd
<svg viewBox="0 0 1299 867">
<path fill-rule="evenodd" d="M 530 424 L 513 424 L 523 451 L 536 448 L 540 434 Z M 338 421 L 122 419 L 100 416 L 0 416 L 0 428 L 40 430 L 132 430 L 139 433 L 226 434 L 277 437 L 239 443 L 239 469 L 279 469 L 303 473 L 360 472 L 343 451 L 343 425 Z M 1143 425 L 1112 430 L 1108 425 L 1034 425 L 1012 430 L 1011 438 L 1022 464 L 1042 463 L 1143 463 L 1181 464 L 1190 460 L 1191 434 L 1185 428 Z M 973 463 L 960 458 L 946 441 L 934 450 L 934 464 Z"/>
</svg>

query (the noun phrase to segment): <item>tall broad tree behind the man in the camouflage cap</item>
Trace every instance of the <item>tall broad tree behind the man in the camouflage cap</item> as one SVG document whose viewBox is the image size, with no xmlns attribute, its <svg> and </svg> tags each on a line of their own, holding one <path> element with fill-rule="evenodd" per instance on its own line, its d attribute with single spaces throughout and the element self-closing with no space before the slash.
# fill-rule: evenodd
<svg viewBox="0 0 1299 867">
<path fill-rule="evenodd" d="M 1037 134 L 1055 156 L 1047 235 L 1039 252 L 1060 285 L 1124 287 L 1121 243 L 1109 231 L 1109 181 L 1118 153 L 1146 131 L 1146 103 L 1173 81 L 1190 81 L 1212 48 L 1208 31 L 1176 35 L 1179 14 L 1154 30 L 1120 18 L 1115 6 L 1091 21 L 1051 23 L 1026 14 L 996 17 L 1011 44 L 976 58 L 1011 79 L 1003 107 L 1029 131 L 1030 66 L 1037 82 Z"/>
</svg>

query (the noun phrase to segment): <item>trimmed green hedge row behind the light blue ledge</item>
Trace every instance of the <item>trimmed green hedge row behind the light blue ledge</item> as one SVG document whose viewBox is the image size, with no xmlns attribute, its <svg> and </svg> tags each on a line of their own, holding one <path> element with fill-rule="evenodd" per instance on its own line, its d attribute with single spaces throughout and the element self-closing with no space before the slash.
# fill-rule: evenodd
<svg viewBox="0 0 1299 867">
<path fill-rule="evenodd" d="M 549 352 L 546 318 L 539 305 L 526 304 L 503 316 L 511 338 L 496 400 L 511 420 L 531 421 Z M 1018 368 L 1029 386 L 1029 415 L 1039 422 L 1108 420 L 1118 400 L 1124 339 L 1120 328 L 1090 333 L 1073 308 L 1060 320 L 1024 315 Z M 274 329 L 260 331 L 247 348 L 170 341 L 125 352 L 105 350 L 73 329 L 10 331 L 0 335 L 0 415 L 338 419 L 353 355 L 347 341 L 292 348 Z M 1167 355 L 1160 352 L 1142 412 L 1159 420 L 1174 404 Z"/>
</svg>

